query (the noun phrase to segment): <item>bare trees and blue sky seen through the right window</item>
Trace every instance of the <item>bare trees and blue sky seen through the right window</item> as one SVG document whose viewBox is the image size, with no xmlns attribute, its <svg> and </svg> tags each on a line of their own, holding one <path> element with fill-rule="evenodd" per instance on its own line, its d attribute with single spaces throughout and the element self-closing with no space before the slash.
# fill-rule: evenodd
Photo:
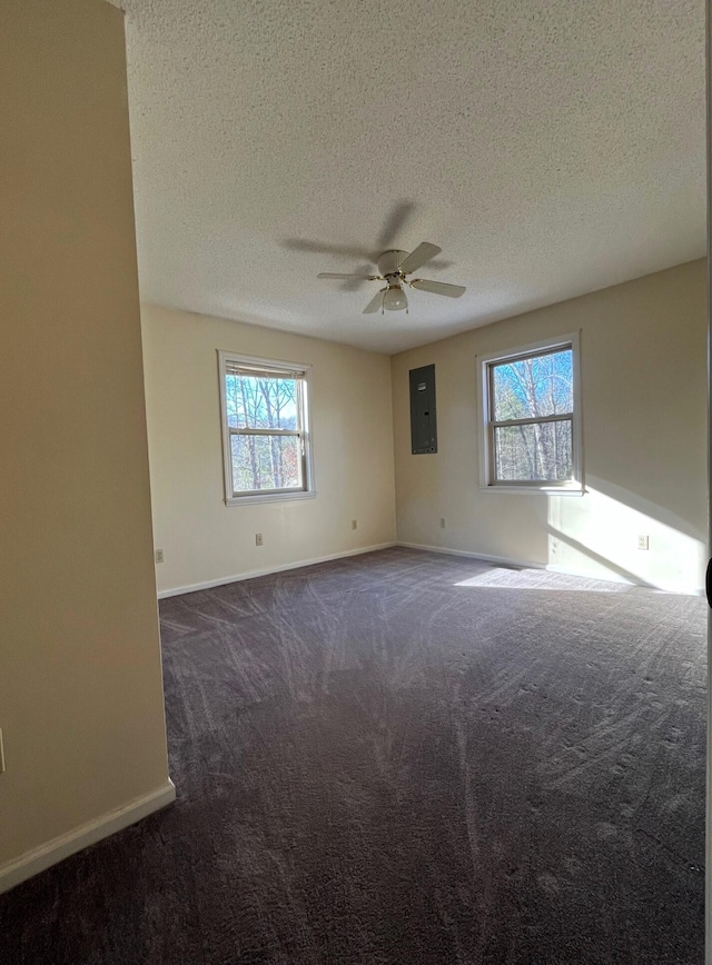
<svg viewBox="0 0 712 965">
<path fill-rule="evenodd" d="M 487 365 L 494 482 L 573 479 L 573 348 Z"/>
</svg>

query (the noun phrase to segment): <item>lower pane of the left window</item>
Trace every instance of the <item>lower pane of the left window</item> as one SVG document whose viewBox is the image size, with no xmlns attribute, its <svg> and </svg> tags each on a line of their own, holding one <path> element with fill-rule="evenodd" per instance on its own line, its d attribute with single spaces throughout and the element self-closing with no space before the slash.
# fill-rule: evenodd
<svg viewBox="0 0 712 965">
<path fill-rule="evenodd" d="M 301 489 L 301 444 L 298 436 L 231 436 L 233 488 Z"/>
</svg>

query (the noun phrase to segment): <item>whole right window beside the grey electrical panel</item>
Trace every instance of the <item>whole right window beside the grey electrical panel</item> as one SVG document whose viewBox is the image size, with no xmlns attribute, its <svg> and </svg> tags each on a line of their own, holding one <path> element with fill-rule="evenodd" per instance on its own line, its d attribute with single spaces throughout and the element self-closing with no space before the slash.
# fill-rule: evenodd
<svg viewBox="0 0 712 965">
<path fill-rule="evenodd" d="M 575 336 L 481 360 L 483 484 L 582 491 Z"/>
</svg>

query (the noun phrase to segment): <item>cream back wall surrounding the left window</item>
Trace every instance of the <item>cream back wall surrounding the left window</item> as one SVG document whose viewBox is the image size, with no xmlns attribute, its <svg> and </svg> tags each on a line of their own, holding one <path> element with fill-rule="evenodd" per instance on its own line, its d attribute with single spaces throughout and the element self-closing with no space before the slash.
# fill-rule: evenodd
<svg viewBox="0 0 712 965">
<path fill-rule="evenodd" d="M 387 356 L 150 305 L 142 331 L 159 590 L 395 539 Z M 225 505 L 218 349 L 313 366 L 316 498 Z"/>
</svg>

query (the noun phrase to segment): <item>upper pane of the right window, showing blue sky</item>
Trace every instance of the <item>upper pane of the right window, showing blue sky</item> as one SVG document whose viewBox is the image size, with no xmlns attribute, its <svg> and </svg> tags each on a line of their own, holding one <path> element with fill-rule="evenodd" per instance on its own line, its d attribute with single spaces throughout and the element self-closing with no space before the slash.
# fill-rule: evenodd
<svg viewBox="0 0 712 965">
<path fill-rule="evenodd" d="M 496 422 L 573 412 L 573 351 L 492 366 L 492 385 Z"/>
</svg>

